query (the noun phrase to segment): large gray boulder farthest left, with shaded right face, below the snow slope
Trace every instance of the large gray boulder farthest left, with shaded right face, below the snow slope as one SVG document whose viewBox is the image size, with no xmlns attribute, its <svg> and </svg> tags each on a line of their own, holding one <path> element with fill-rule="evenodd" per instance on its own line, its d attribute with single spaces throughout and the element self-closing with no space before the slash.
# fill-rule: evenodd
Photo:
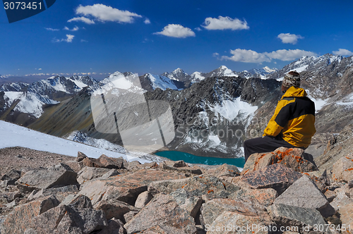
<svg viewBox="0 0 353 234">
<path fill-rule="evenodd" d="M 16 185 L 21 192 L 46 189 L 50 187 L 62 187 L 76 185 L 77 173 L 66 164 L 58 164 L 46 169 L 35 169 L 26 172 Z"/>
</svg>

